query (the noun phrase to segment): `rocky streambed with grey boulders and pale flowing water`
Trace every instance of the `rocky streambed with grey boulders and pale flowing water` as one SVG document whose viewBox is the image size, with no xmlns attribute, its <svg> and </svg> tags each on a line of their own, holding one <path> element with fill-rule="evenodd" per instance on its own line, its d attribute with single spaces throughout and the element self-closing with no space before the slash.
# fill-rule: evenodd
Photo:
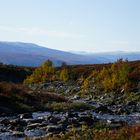
<svg viewBox="0 0 140 140">
<path fill-rule="evenodd" d="M 29 113 L 1 114 L 0 139 L 25 139 L 65 133 L 73 127 L 82 125 L 91 127 L 120 128 L 125 125 L 140 123 L 140 92 L 104 93 L 100 95 L 81 95 L 81 87 L 76 83 L 54 82 L 32 85 L 33 91 L 55 92 L 68 98 L 63 103 L 52 106 L 50 111 Z M 94 88 L 90 89 L 95 93 Z M 74 94 L 77 93 L 77 94 Z M 92 95 L 92 96 L 91 96 Z M 56 103 L 54 103 L 56 104 Z M 62 104 L 62 106 L 58 106 Z M 67 104 L 88 106 L 68 107 Z M 61 109 L 60 109 L 61 108 Z"/>
</svg>

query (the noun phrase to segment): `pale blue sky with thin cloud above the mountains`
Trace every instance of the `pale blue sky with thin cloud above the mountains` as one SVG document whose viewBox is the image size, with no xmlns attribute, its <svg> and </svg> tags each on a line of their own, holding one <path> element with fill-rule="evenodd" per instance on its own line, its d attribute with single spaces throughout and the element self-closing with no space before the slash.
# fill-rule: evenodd
<svg viewBox="0 0 140 140">
<path fill-rule="evenodd" d="M 0 41 L 140 51 L 140 0 L 0 0 Z"/>
</svg>

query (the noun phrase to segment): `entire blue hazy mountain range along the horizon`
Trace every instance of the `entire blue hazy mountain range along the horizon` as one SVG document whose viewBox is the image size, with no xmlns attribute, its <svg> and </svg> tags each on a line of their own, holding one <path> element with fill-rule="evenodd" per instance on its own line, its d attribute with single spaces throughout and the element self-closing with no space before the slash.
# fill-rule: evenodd
<svg viewBox="0 0 140 140">
<path fill-rule="evenodd" d="M 0 42 L 0 62 L 22 66 L 39 66 L 50 59 L 56 66 L 67 64 L 101 64 L 114 62 L 119 58 L 140 60 L 140 52 L 109 52 L 76 54 L 54 50 L 32 43 Z"/>
</svg>

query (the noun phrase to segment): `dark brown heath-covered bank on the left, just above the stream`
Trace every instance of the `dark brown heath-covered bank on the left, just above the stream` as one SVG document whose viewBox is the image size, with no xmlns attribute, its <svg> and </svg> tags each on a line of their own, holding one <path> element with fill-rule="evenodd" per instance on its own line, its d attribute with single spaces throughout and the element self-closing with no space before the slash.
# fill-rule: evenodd
<svg viewBox="0 0 140 140">
<path fill-rule="evenodd" d="M 67 102 L 67 99 L 53 93 L 31 91 L 21 84 L 0 83 L 0 113 L 48 110 L 44 105 L 53 102 Z"/>
</svg>

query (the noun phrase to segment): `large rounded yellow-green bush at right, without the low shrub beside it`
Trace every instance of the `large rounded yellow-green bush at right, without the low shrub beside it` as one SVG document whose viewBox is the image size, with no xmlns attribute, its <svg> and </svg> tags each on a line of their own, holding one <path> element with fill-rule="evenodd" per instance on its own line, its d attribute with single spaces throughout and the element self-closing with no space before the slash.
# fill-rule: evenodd
<svg viewBox="0 0 140 140">
<path fill-rule="evenodd" d="M 105 91 L 119 92 L 127 90 L 129 67 L 127 61 L 119 59 L 113 63 L 111 68 L 103 68 L 95 76 L 96 84 L 101 85 Z"/>
</svg>

